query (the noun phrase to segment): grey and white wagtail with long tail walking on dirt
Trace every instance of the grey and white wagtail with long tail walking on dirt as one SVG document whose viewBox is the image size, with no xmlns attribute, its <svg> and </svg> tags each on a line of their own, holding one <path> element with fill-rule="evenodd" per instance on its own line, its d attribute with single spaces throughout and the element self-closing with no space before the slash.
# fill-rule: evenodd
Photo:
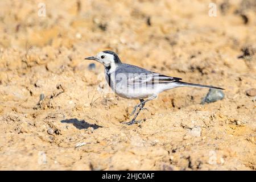
<svg viewBox="0 0 256 182">
<path fill-rule="evenodd" d="M 113 51 L 101 51 L 96 56 L 86 57 L 85 60 L 98 61 L 105 67 L 105 78 L 110 88 L 119 97 L 139 100 L 139 104 L 134 106 L 130 116 L 134 115 L 127 125 L 133 125 L 140 121 L 135 119 L 141 110 L 146 109 L 146 102 L 154 100 L 159 93 L 181 86 L 195 86 L 201 88 L 221 89 L 216 86 L 192 84 L 180 81 L 182 78 L 166 76 L 161 73 L 148 71 L 131 64 L 122 63 L 117 53 Z"/>
</svg>

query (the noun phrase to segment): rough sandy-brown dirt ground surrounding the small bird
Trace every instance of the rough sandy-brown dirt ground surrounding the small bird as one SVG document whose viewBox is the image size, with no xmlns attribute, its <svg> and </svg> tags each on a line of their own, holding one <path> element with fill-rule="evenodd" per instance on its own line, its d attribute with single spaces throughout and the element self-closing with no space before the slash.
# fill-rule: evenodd
<svg viewBox="0 0 256 182">
<path fill-rule="evenodd" d="M 46 16 L 42 16 L 46 5 Z M 256 2 L 0 1 L 0 169 L 255 170 Z M 104 90 L 103 50 L 184 81 L 146 104 Z"/>
</svg>

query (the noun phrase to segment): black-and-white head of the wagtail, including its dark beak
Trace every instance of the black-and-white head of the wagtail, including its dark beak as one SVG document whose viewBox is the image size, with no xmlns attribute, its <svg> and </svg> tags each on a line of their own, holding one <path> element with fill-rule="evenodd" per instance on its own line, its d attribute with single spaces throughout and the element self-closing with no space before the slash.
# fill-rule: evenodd
<svg viewBox="0 0 256 182">
<path fill-rule="evenodd" d="M 96 56 L 86 57 L 86 60 L 96 60 L 103 64 L 105 67 L 111 67 L 121 63 L 118 55 L 113 51 L 101 51 Z"/>
</svg>

